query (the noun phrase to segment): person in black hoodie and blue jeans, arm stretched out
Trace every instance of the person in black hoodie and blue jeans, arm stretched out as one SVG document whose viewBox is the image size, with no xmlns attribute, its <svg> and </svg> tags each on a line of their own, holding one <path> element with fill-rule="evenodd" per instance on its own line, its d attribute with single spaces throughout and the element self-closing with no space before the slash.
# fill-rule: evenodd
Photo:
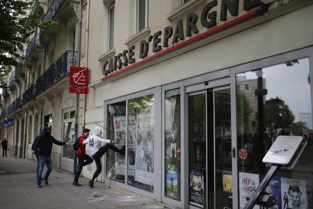
<svg viewBox="0 0 313 209">
<path fill-rule="evenodd" d="M 70 145 L 70 143 L 65 143 L 62 141 L 58 141 L 51 136 L 51 130 L 49 127 L 45 127 L 43 130 L 42 136 L 39 137 L 38 142 L 35 144 L 33 150 L 38 150 L 39 155 L 39 168 L 36 176 L 38 188 L 41 187 L 41 176 L 44 164 L 47 165 L 47 173 L 45 174 L 45 185 L 48 185 L 48 178 L 52 171 L 52 160 L 51 160 L 51 150 L 52 144 L 56 144 L 59 146 Z"/>
</svg>

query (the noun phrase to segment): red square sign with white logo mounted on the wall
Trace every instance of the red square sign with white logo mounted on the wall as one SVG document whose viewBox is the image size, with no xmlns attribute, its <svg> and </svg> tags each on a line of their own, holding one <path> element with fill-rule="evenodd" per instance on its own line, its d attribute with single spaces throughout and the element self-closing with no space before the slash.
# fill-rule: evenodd
<svg viewBox="0 0 313 209">
<path fill-rule="evenodd" d="M 88 86 L 89 68 L 70 67 L 70 86 Z"/>
</svg>

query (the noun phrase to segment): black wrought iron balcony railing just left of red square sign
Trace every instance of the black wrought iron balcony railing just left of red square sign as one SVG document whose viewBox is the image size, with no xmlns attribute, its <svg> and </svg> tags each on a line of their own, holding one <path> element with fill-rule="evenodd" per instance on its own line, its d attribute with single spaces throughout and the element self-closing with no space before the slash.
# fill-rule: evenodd
<svg viewBox="0 0 313 209">
<path fill-rule="evenodd" d="M 70 66 L 77 66 L 77 52 L 66 51 L 48 70 L 36 80 L 35 95 L 47 90 L 70 72 Z"/>
</svg>

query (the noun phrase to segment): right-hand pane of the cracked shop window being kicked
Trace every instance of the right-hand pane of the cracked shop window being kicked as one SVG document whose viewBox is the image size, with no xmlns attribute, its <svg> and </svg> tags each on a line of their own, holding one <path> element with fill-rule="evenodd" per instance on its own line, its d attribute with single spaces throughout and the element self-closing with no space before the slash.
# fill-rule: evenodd
<svg viewBox="0 0 313 209">
<path fill-rule="evenodd" d="M 154 95 L 128 101 L 128 185 L 153 192 Z"/>
</svg>

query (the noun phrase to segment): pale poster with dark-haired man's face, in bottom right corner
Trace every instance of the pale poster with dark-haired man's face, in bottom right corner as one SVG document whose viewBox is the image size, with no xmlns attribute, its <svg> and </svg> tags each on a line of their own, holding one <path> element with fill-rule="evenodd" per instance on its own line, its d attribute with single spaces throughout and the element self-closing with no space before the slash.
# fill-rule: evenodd
<svg viewBox="0 0 313 209">
<path fill-rule="evenodd" d="M 280 178 L 283 209 L 308 209 L 305 180 Z"/>
</svg>

